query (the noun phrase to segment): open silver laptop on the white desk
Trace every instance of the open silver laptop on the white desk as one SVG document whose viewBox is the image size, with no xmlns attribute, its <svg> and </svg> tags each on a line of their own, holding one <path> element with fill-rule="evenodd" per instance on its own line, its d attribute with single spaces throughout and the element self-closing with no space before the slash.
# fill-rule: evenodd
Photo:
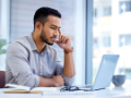
<svg viewBox="0 0 131 98">
<path fill-rule="evenodd" d="M 109 87 L 117 66 L 118 59 L 119 54 L 104 54 L 94 85 L 80 86 L 79 88 L 88 91 Z"/>
</svg>

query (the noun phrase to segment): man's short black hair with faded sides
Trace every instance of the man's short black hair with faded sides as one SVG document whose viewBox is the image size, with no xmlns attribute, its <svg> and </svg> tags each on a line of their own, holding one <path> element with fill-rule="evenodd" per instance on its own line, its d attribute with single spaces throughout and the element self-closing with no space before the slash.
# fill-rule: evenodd
<svg viewBox="0 0 131 98">
<path fill-rule="evenodd" d="M 34 15 L 34 29 L 36 22 L 40 22 L 43 25 L 45 25 L 48 15 L 55 15 L 61 19 L 61 14 L 57 10 L 48 7 L 39 8 Z"/>
</svg>

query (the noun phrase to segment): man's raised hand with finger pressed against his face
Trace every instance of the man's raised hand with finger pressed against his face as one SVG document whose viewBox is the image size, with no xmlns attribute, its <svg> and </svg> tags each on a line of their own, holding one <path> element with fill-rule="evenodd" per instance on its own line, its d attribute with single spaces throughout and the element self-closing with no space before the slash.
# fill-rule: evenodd
<svg viewBox="0 0 131 98">
<path fill-rule="evenodd" d="M 55 42 L 66 52 L 73 51 L 73 49 L 71 48 L 71 37 L 62 35 L 61 30 L 59 30 L 59 40 L 56 40 Z"/>
</svg>

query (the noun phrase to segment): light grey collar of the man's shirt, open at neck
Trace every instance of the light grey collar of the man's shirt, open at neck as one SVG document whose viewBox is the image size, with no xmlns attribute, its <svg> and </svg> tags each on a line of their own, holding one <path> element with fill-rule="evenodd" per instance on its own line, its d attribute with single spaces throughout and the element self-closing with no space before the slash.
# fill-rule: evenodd
<svg viewBox="0 0 131 98">
<path fill-rule="evenodd" d="M 28 41 L 29 41 L 29 44 L 31 44 L 32 50 L 38 51 L 38 50 L 37 50 L 37 47 L 36 47 L 36 44 L 35 44 L 35 41 L 34 41 L 34 39 L 33 39 L 33 35 L 32 35 L 32 34 L 28 36 Z M 44 52 L 49 52 L 49 49 L 48 49 L 48 45 L 47 45 L 47 44 L 45 45 L 44 50 L 41 51 L 41 53 L 44 53 Z"/>
</svg>

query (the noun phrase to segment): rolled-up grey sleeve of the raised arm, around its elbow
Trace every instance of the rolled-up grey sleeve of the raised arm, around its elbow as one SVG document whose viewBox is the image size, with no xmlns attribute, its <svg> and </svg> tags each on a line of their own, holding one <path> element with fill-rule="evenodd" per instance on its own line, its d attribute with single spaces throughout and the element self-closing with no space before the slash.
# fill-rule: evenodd
<svg viewBox="0 0 131 98">
<path fill-rule="evenodd" d="M 59 54 L 57 54 L 56 65 L 57 65 L 56 75 L 61 75 L 63 77 L 66 86 L 73 85 L 75 75 L 69 78 L 63 74 L 63 62 L 61 61 Z"/>
</svg>

